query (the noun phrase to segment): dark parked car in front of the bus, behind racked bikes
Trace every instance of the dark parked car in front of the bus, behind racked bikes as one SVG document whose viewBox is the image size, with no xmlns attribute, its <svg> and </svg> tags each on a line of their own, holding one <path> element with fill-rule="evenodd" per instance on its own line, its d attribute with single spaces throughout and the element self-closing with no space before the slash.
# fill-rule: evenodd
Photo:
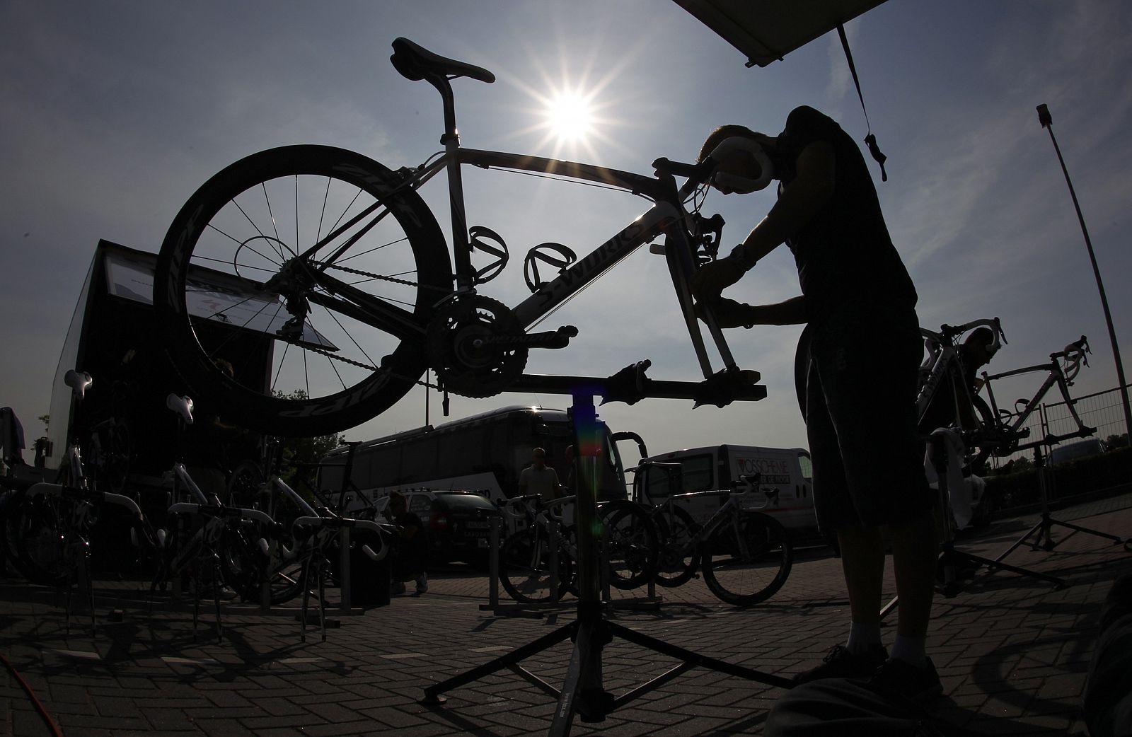
<svg viewBox="0 0 1132 737">
<path fill-rule="evenodd" d="M 501 513 L 487 497 L 474 491 L 402 491 L 406 508 L 421 519 L 428 534 L 432 563 L 487 563 L 491 517 Z M 384 514 L 388 496 L 374 499 Z"/>
</svg>

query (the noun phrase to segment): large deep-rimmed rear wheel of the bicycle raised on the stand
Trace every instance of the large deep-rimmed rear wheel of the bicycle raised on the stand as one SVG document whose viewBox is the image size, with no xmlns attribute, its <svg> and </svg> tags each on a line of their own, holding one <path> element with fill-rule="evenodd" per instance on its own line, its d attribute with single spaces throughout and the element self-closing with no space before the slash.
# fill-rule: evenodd
<svg viewBox="0 0 1132 737">
<path fill-rule="evenodd" d="M 310 437 L 404 396 L 451 291 L 436 218 L 398 175 L 341 148 L 288 146 L 238 161 L 186 203 L 154 305 L 194 392 L 245 427 Z"/>
</svg>

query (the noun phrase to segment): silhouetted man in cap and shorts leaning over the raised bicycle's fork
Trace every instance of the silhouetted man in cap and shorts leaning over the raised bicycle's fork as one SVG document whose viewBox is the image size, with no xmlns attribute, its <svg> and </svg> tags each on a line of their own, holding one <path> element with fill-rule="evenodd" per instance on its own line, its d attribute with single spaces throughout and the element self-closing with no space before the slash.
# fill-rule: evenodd
<svg viewBox="0 0 1132 737">
<path fill-rule="evenodd" d="M 886 693 L 926 701 L 941 693 L 924 649 L 938 543 L 916 429 L 917 295 L 865 160 L 837 122 L 805 106 L 777 137 L 743 126 L 717 129 L 700 160 L 709 155 L 719 162 L 712 185 L 724 195 L 771 179 L 780 186 L 778 202 L 744 242 L 696 272 L 701 309 L 712 306 L 723 327 L 808 324 L 814 503 L 820 526 L 840 542 L 852 622 L 846 645 L 798 680 L 869 678 Z M 720 297 L 782 242 L 794 252 L 800 297 L 762 306 Z M 900 598 L 891 658 L 880 629 L 884 525 Z"/>
</svg>

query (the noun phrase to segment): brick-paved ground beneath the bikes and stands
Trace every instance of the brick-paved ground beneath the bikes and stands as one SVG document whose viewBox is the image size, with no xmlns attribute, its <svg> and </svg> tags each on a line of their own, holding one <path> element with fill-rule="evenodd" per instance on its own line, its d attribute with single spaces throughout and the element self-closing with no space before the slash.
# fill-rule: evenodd
<svg viewBox="0 0 1132 737">
<path fill-rule="evenodd" d="M 1132 534 L 1132 495 L 1054 514 L 1090 530 Z M 995 523 L 959 548 L 996 557 L 1038 521 Z M 1005 563 L 1064 579 L 1055 590 L 1035 577 L 983 569 L 958 595 L 937 598 L 928 648 L 944 683 L 937 719 L 987 735 L 1084 735 L 1079 714 L 1100 602 L 1132 572 L 1132 555 L 1109 540 L 1054 525 L 1052 551 L 1023 545 Z M 299 639 L 293 610 L 260 614 L 226 606 L 224 640 L 191 610 L 156 602 L 149 615 L 134 583 L 97 582 L 97 633 L 86 615 L 66 631 L 63 599 L 51 589 L 0 581 L 0 732 L 51 735 L 19 678 L 68 737 L 129 735 L 546 734 L 555 699 L 504 670 L 449 691 L 443 706 L 418 703 L 422 689 L 529 643 L 574 617 L 569 607 L 541 618 L 498 616 L 488 581 L 456 569 L 436 573 L 423 597 L 341 616 L 321 642 Z M 891 566 L 886 595 L 893 592 Z M 623 603 L 648 592 L 615 592 Z M 675 645 L 789 677 L 820 661 L 848 632 L 840 562 L 803 554 L 769 602 L 738 610 L 696 580 L 660 590 L 654 609 L 615 608 L 610 620 Z M 112 609 L 122 620 L 110 622 Z M 885 637 L 894 634 L 895 612 Z M 524 661 L 560 686 L 569 642 Z M 620 695 L 677 665 L 615 639 L 602 653 L 602 683 Z M 17 675 L 18 674 L 18 677 Z M 763 683 L 695 668 L 616 710 L 599 723 L 575 718 L 575 735 L 760 734 L 781 695 Z"/>
</svg>

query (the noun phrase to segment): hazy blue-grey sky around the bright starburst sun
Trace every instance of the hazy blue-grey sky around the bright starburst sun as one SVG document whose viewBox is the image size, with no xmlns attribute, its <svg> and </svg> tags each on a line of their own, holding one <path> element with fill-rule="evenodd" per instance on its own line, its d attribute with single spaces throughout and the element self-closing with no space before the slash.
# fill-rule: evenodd
<svg viewBox="0 0 1132 737">
<path fill-rule="evenodd" d="M 659 156 L 693 160 L 721 123 L 777 134 L 800 104 L 858 142 L 871 129 L 889 156 L 887 182 L 871 166 L 919 293 L 920 324 L 1000 317 L 1009 343 L 994 371 L 1039 363 L 1087 335 L 1090 367 L 1073 387 L 1081 395 L 1116 386 L 1115 361 L 1065 179 L 1035 112 L 1046 103 L 1132 361 L 1132 3 L 1121 0 L 889 0 L 847 24 L 868 125 L 835 32 L 746 68 L 743 54 L 668 0 L 7 0 L 0 26 L 9 28 L 0 45 L 0 405 L 15 410 L 28 444 L 43 432 L 36 418 L 49 411 L 98 239 L 155 252 L 200 183 L 272 146 L 334 145 L 391 169 L 439 149 L 438 95 L 392 68 L 397 36 L 495 72 L 491 85 L 454 83 L 461 139 L 475 148 L 649 174 Z M 564 139 L 548 126 L 549 101 L 566 92 L 590 103 L 584 136 Z M 483 293 L 511 305 L 526 293 L 528 249 L 556 241 L 585 254 L 648 207 L 499 172 L 472 172 L 465 188 L 469 223 L 498 232 L 513 254 L 506 276 Z M 441 179 L 426 190 L 447 230 Z M 717 192 L 703 212 L 723 215 L 729 246 L 773 198 L 773 188 Z M 784 247 L 727 292 L 752 303 L 797 293 Z M 663 259 L 646 249 L 541 329 L 561 324 L 577 326 L 578 337 L 563 351 L 532 352 L 529 371 L 608 376 L 649 359 L 652 378 L 701 378 Z M 644 400 L 600 414 L 611 430 L 641 434 L 651 453 L 804 447 L 792 379 L 799 333 L 728 331 L 739 366 L 762 372 L 761 402 L 693 409 Z M 1020 380 L 1018 395 L 1040 378 Z M 567 402 L 453 396 L 451 419 Z M 444 420 L 435 395 L 428 419 Z M 418 387 L 345 435 L 365 440 L 424 420 Z"/>
</svg>

